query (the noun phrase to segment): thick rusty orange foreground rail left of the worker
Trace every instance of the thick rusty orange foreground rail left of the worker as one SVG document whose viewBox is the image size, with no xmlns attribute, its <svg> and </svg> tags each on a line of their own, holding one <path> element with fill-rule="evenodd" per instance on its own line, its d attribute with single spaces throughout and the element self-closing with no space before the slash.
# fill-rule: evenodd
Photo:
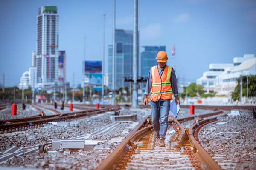
<svg viewBox="0 0 256 170">
<path fill-rule="evenodd" d="M 143 125 L 147 122 L 148 116 L 143 119 L 137 125 L 134 130 L 116 147 L 113 152 L 108 155 L 106 159 L 104 159 L 98 167 L 95 168 L 95 170 L 111 170 L 113 169 L 113 166 L 117 164 L 117 162 L 122 158 L 122 156 L 125 154 L 124 148 L 126 147 L 127 144 L 131 145 L 130 139 L 134 134 L 141 128 Z M 147 127 L 145 127 L 147 128 Z"/>
</svg>

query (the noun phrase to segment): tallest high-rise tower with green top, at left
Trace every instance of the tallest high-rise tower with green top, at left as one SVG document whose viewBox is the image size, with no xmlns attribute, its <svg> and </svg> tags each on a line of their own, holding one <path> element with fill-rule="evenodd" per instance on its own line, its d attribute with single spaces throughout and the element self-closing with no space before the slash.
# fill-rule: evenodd
<svg viewBox="0 0 256 170">
<path fill-rule="evenodd" d="M 57 6 L 42 6 L 37 16 L 37 82 L 50 88 L 58 81 Z"/>
</svg>

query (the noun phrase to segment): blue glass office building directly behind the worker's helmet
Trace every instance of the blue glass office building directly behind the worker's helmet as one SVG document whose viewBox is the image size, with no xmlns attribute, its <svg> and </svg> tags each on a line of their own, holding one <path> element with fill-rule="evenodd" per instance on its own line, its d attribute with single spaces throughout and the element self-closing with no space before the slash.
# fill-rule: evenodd
<svg viewBox="0 0 256 170">
<path fill-rule="evenodd" d="M 141 77 L 148 77 L 151 67 L 158 65 L 156 56 L 159 51 L 166 51 L 166 46 L 143 46 L 145 51 L 141 52 Z M 145 87 L 146 83 L 142 83 Z"/>
</svg>

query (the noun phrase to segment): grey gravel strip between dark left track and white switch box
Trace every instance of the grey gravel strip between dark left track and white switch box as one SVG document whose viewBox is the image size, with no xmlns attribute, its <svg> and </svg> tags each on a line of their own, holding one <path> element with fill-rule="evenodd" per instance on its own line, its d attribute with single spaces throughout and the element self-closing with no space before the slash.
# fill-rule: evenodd
<svg viewBox="0 0 256 170">
<path fill-rule="evenodd" d="M 28 147 L 37 144 L 48 143 L 49 139 L 67 139 L 76 136 L 86 135 L 110 125 L 111 119 L 107 116 L 88 116 L 83 119 L 74 119 L 71 122 L 79 122 L 79 127 L 39 127 L 23 132 L 7 133 L 0 135 L 0 152 L 12 146 Z"/>
</svg>

